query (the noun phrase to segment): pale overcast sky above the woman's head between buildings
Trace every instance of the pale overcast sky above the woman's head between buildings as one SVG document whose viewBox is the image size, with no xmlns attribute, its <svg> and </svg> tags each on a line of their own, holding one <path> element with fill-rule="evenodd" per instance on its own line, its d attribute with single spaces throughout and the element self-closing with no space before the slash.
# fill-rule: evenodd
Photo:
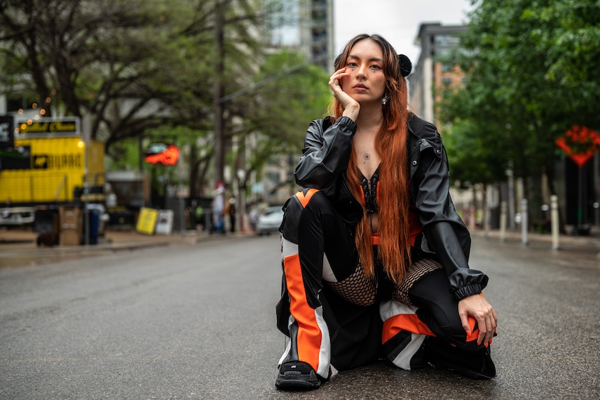
<svg viewBox="0 0 600 400">
<path fill-rule="evenodd" d="M 415 64 L 420 24 L 465 24 L 472 10 L 471 0 L 333 0 L 333 5 L 336 54 L 358 33 L 379 33 Z"/>
</svg>

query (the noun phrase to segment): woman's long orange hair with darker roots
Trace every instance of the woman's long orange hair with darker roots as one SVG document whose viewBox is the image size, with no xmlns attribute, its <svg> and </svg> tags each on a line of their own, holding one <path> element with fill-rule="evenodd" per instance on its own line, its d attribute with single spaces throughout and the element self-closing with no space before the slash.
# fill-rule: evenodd
<svg viewBox="0 0 600 400">
<path fill-rule="evenodd" d="M 406 119 L 408 95 L 406 80 L 400 74 L 400 61 L 390 43 L 380 35 L 361 34 L 350 40 L 342 54 L 335 60 L 335 70 L 346 66 L 348 56 L 356 42 L 369 39 L 384 52 L 383 70 L 386 76 L 387 102 L 383 107 L 384 121 L 375 138 L 379 165 L 379 237 L 378 257 L 391 280 L 399 283 L 411 262 L 409 232 L 409 172 L 406 151 Z M 335 98 L 331 112 L 340 118 L 344 109 Z M 354 197 L 363 204 L 363 192 L 358 181 L 356 157 L 350 157 L 346 172 L 347 182 Z M 365 205 L 363 204 L 363 210 Z M 365 211 L 366 216 L 366 211 Z M 356 226 L 354 238 L 358 257 L 368 276 L 374 275 L 372 232 L 368 218 L 363 217 Z"/>
</svg>

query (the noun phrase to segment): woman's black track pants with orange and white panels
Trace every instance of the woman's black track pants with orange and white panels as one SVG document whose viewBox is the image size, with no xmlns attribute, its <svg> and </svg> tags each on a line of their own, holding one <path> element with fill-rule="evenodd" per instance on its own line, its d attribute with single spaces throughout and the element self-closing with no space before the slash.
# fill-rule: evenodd
<svg viewBox="0 0 600 400">
<path fill-rule="evenodd" d="M 350 303 L 331 289 L 327 282 L 346 282 L 361 267 L 352 227 L 323 193 L 304 189 L 292 196 L 281 232 L 283 283 L 277 324 L 287 341 L 280 365 L 308 362 L 327 378 L 331 365 L 350 369 L 383 357 L 402 369 L 424 367 L 430 362 L 428 338 L 453 351 L 487 350 L 477 345 L 474 320 L 471 335 L 462 328 L 443 269 L 413 285 L 413 305 L 391 299 L 393 284 L 381 266 L 370 282 L 375 295 L 368 304 Z"/>
</svg>

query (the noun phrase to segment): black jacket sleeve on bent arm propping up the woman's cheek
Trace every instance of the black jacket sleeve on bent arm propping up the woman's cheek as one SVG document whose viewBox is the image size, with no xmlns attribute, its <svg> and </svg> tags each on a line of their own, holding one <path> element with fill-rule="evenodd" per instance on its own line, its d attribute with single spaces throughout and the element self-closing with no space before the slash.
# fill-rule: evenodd
<svg viewBox="0 0 600 400">
<path fill-rule="evenodd" d="M 310 123 L 302 157 L 294 172 L 296 183 L 319 190 L 331 188 L 348 167 L 356 122 L 340 117 L 323 129 L 325 120 Z"/>
</svg>

